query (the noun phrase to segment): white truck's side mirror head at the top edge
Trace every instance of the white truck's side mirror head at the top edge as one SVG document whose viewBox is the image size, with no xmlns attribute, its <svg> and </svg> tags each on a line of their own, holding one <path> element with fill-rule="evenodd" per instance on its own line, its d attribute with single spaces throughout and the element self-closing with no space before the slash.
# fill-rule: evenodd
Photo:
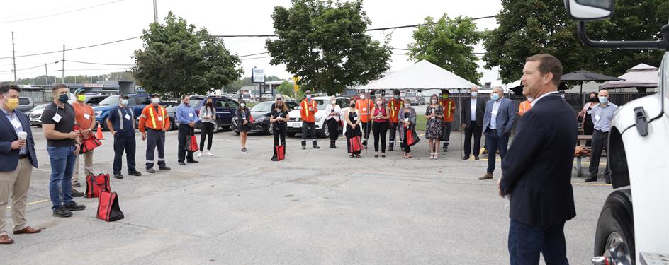
<svg viewBox="0 0 669 265">
<path fill-rule="evenodd" d="M 613 15 L 615 0 L 564 0 L 567 13 L 574 20 L 594 21 Z"/>
</svg>

